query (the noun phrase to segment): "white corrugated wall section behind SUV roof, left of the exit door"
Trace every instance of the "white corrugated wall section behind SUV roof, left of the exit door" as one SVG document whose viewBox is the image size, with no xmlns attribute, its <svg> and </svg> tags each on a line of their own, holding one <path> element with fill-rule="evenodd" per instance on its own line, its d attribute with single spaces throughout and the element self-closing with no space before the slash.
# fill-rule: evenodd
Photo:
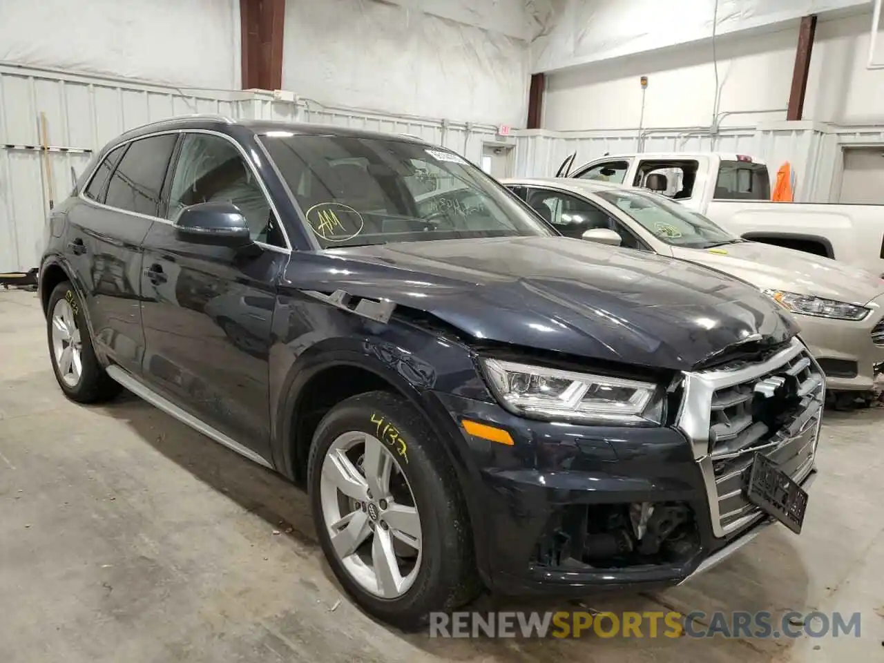
<svg viewBox="0 0 884 663">
<path fill-rule="evenodd" d="M 109 80 L 48 70 L 0 65 L 0 271 L 36 266 L 52 200 L 71 189 L 91 154 L 49 152 L 52 188 L 40 151 L 4 146 L 38 146 L 41 113 L 54 148 L 97 150 L 134 126 L 188 113 L 232 118 L 297 120 L 352 126 L 388 133 L 411 133 L 445 145 L 478 164 L 484 144 L 515 145 L 493 126 L 448 123 L 431 118 L 389 116 L 362 110 L 287 103 L 250 92 L 199 91 Z"/>
</svg>

